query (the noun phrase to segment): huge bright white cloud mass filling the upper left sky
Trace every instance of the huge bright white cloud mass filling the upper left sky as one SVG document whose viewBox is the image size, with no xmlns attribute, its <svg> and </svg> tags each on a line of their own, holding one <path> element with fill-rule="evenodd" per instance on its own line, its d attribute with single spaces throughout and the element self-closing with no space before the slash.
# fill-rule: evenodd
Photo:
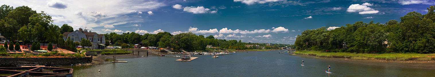
<svg viewBox="0 0 435 77">
<path fill-rule="evenodd" d="M 79 27 L 99 27 L 105 25 L 121 25 L 127 23 L 145 22 L 148 19 L 124 17 L 138 11 L 154 10 L 166 6 L 156 0 L 0 0 L 0 3 L 13 7 L 29 6 L 37 12 L 44 11 L 57 17 L 53 24 L 61 26 L 68 24 L 74 29 Z M 60 3 L 60 4 L 59 4 Z M 59 6 L 59 5 L 60 6 Z M 63 5 L 67 7 L 62 7 Z M 103 24 L 103 25 L 100 25 Z"/>
</svg>

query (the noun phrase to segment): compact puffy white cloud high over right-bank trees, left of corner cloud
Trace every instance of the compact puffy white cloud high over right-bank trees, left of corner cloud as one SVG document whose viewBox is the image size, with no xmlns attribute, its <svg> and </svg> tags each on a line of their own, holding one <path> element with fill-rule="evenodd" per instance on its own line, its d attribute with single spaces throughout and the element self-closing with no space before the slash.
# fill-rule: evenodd
<svg viewBox="0 0 435 77">
<path fill-rule="evenodd" d="M 368 4 L 365 4 L 365 5 L 352 4 L 351 6 L 349 6 L 349 8 L 346 11 L 349 13 L 359 12 L 359 14 L 372 14 L 372 13 L 379 12 L 378 10 L 372 9 L 372 8 L 368 7 L 367 5 Z"/>
</svg>

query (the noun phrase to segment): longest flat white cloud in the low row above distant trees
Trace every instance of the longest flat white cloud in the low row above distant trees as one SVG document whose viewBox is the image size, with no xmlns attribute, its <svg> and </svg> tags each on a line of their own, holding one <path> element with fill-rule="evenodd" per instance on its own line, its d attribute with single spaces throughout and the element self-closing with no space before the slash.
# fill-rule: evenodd
<svg viewBox="0 0 435 77">
<path fill-rule="evenodd" d="M 252 33 L 269 33 L 271 30 L 270 29 L 260 29 L 260 30 L 258 30 L 258 29 L 255 29 L 254 31 L 248 31 L 248 30 L 239 30 L 239 29 L 236 29 L 236 30 L 231 30 L 231 29 L 228 29 L 228 28 L 222 28 L 221 30 L 219 30 L 219 33 L 220 34 L 237 34 L 237 33 L 240 33 L 240 34 L 252 34 Z"/>
</svg>

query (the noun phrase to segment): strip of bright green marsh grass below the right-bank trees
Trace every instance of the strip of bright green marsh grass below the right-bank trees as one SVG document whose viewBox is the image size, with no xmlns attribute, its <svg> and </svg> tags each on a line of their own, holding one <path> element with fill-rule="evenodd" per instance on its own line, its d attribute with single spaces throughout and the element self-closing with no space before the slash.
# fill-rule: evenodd
<svg viewBox="0 0 435 77">
<path fill-rule="evenodd" d="M 321 52 L 321 51 L 296 51 L 294 54 L 315 55 L 324 58 L 351 58 L 357 60 L 397 60 L 397 61 L 431 61 L 435 59 L 435 54 L 416 54 L 416 53 L 384 53 L 384 54 L 361 54 L 345 52 Z"/>
</svg>

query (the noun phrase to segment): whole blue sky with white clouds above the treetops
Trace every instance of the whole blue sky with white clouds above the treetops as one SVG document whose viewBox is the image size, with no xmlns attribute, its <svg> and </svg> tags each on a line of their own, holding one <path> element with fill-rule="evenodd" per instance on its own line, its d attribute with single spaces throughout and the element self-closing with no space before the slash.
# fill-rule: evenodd
<svg viewBox="0 0 435 77">
<path fill-rule="evenodd" d="M 255 43 L 294 44 L 297 35 L 357 21 L 385 23 L 406 13 L 425 14 L 433 0 L 0 0 L 29 6 L 100 34 L 193 32 Z"/>
</svg>

